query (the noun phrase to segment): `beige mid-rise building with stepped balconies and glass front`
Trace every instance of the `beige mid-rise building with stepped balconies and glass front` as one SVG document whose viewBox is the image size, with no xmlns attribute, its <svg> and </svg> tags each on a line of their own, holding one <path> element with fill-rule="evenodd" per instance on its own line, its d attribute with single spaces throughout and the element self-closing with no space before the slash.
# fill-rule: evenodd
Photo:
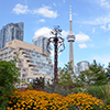
<svg viewBox="0 0 110 110">
<path fill-rule="evenodd" d="M 52 82 L 54 69 L 50 57 L 42 53 L 42 48 L 19 40 L 8 42 L 6 47 L 0 50 L 0 61 L 10 61 L 19 54 L 20 79 L 31 82 L 36 77 L 45 77 L 45 81 Z M 25 87 L 24 84 L 15 85 Z"/>
</svg>

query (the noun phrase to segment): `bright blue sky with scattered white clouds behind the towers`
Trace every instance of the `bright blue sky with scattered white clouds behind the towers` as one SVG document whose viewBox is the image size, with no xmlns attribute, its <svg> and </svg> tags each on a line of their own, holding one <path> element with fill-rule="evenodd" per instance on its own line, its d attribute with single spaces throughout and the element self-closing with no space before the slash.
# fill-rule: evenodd
<svg viewBox="0 0 110 110">
<path fill-rule="evenodd" d="M 0 29 L 8 23 L 24 22 L 24 42 L 47 35 L 53 25 L 59 25 L 65 38 L 65 51 L 58 56 L 58 66 L 69 61 L 69 4 L 72 4 L 75 65 L 94 59 L 110 62 L 110 1 L 109 0 L 0 0 Z M 52 55 L 52 59 L 54 59 Z"/>
</svg>

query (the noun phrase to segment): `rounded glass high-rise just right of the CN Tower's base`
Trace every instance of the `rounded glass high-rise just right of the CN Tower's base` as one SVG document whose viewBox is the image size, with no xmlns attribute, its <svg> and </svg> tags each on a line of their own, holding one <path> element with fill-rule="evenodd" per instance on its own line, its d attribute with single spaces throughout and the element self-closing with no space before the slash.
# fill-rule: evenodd
<svg viewBox="0 0 110 110">
<path fill-rule="evenodd" d="M 87 62 L 87 61 L 79 62 L 79 63 L 77 63 L 77 65 L 75 66 L 75 73 L 76 73 L 77 75 L 79 75 L 80 72 L 88 69 L 88 67 L 89 67 L 89 62 Z"/>
</svg>

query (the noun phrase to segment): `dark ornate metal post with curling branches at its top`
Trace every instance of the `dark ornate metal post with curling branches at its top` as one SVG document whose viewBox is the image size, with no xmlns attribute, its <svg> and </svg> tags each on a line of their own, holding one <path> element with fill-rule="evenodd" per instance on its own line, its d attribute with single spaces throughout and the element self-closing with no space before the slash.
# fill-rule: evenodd
<svg viewBox="0 0 110 110">
<path fill-rule="evenodd" d="M 53 31 L 51 32 L 51 34 L 53 34 L 53 37 L 50 37 L 47 40 L 47 52 L 51 53 L 51 46 L 50 44 L 54 45 L 54 88 L 57 88 L 57 54 L 63 52 L 65 50 L 65 44 L 64 44 L 64 38 L 57 36 L 58 34 L 61 35 L 62 30 L 59 29 L 59 26 L 54 26 Z M 58 48 L 62 47 L 59 51 Z"/>
</svg>

